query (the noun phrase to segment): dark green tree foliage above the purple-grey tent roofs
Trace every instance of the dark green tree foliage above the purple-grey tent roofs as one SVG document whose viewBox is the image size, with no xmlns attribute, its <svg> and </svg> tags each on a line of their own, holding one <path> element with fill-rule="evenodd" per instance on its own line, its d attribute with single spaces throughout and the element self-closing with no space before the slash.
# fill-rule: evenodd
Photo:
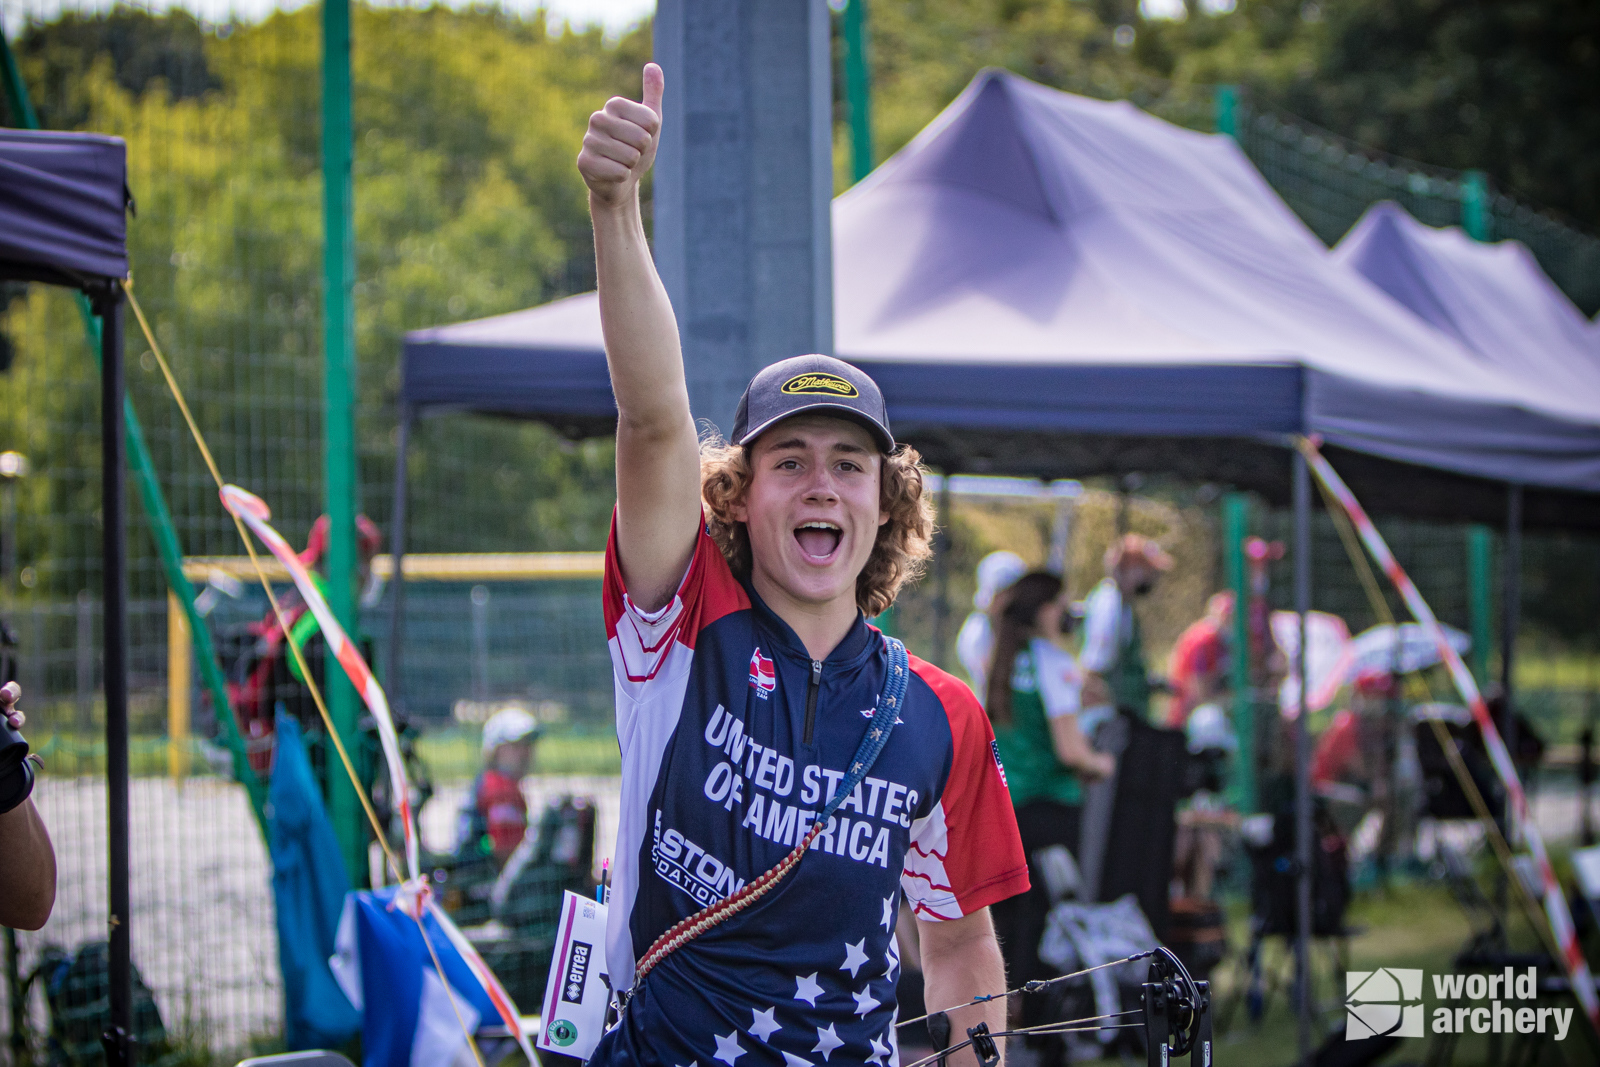
<svg viewBox="0 0 1600 1067">
<path fill-rule="evenodd" d="M 1600 230 L 1589 0 L 1184 0 L 1181 19 L 1141 18 L 1128 0 L 867 2 L 878 158 L 986 66 L 1197 128 L 1213 86 L 1237 83 L 1381 152 L 1485 170 Z"/>
</svg>

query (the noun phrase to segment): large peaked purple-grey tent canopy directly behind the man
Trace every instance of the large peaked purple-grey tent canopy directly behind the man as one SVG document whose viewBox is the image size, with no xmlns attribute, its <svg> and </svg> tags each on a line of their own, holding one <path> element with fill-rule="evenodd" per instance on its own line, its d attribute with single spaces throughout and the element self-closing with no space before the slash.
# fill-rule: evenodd
<svg viewBox="0 0 1600 1067">
<path fill-rule="evenodd" d="M 1338 261 L 1232 139 L 1005 72 L 834 202 L 834 323 L 912 440 L 1310 432 L 1600 490 L 1600 411 Z M 402 400 L 614 419 L 595 296 L 408 334 Z"/>
</svg>

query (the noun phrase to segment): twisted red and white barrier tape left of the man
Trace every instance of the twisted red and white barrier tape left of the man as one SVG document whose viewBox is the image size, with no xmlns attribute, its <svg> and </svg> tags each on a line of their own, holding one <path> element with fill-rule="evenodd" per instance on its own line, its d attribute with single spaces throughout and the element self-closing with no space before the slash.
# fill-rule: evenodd
<svg viewBox="0 0 1600 1067">
<path fill-rule="evenodd" d="M 488 993 L 501 1022 L 504 1022 L 507 1030 L 517 1037 L 517 1043 L 522 1046 L 528 1062 L 539 1062 L 533 1054 L 533 1046 L 522 1032 L 522 1017 L 517 1013 L 515 1001 L 512 1001 L 499 979 L 494 977 L 494 971 L 488 968 L 483 957 L 480 957 L 472 947 L 472 942 L 467 941 L 461 929 L 458 929 L 451 921 L 450 915 L 446 915 L 445 910 L 434 901 L 432 886 L 429 880 L 422 877 L 416 838 L 416 819 L 411 813 L 411 782 L 406 781 L 405 761 L 400 758 L 400 734 L 395 731 L 395 720 L 389 712 L 389 697 L 384 696 L 384 689 L 378 685 L 378 678 L 374 678 L 373 672 L 366 667 L 366 661 L 362 659 L 362 653 L 355 648 L 355 641 L 349 638 L 344 627 L 339 625 L 339 621 L 334 617 L 333 609 L 328 608 L 328 601 L 323 598 L 322 590 L 317 589 L 317 582 L 312 581 L 310 571 L 306 569 L 299 555 L 290 547 L 290 542 L 283 539 L 283 534 L 272 528 L 272 523 L 269 522 L 272 518 L 272 510 L 267 507 L 266 501 L 254 493 L 238 488 L 237 485 L 226 485 L 222 486 L 222 507 L 250 526 L 250 533 L 256 534 L 256 539 L 267 545 L 267 550 L 270 550 L 272 555 L 277 557 L 278 563 L 288 569 L 290 577 L 294 579 L 294 589 L 299 590 L 306 606 L 317 617 L 317 624 L 322 627 L 323 640 L 328 641 L 328 649 L 333 651 L 339 665 L 344 669 L 344 673 L 350 678 L 350 685 L 354 685 L 357 693 L 362 694 L 366 710 L 370 710 L 373 718 L 378 721 L 378 737 L 382 742 L 384 763 L 389 768 L 389 792 L 394 795 L 405 832 L 405 862 L 408 878 L 397 899 L 405 912 L 418 921 L 421 921 L 424 910 L 434 915 L 438 926 L 450 939 L 450 944 L 461 953 L 467 969 L 470 969 L 472 976 L 478 979 L 480 985 L 483 985 L 483 992 Z"/>
</svg>

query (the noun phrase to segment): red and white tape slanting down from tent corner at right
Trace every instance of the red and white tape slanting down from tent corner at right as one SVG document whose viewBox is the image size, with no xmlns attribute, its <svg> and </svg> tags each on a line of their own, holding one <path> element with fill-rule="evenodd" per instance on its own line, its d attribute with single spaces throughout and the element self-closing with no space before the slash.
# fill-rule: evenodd
<svg viewBox="0 0 1600 1067">
<path fill-rule="evenodd" d="M 1379 534 L 1378 528 L 1373 526 L 1373 520 L 1366 517 L 1366 512 L 1355 501 L 1355 494 L 1350 493 L 1350 488 L 1344 485 L 1344 480 L 1328 464 L 1314 442 L 1302 438 L 1301 451 L 1306 454 L 1306 461 L 1310 464 L 1312 474 L 1317 475 L 1317 480 L 1322 482 L 1336 501 L 1339 501 L 1344 514 L 1350 517 L 1350 522 L 1355 525 L 1355 533 L 1360 534 L 1366 550 L 1373 553 L 1373 560 L 1382 568 L 1384 574 L 1389 576 L 1389 581 L 1394 582 L 1395 589 L 1400 592 L 1400 598 L 1405 600 L 1406 608 L 1411 611 L 1411 617 L 1422 624 L 1422 627 L 1432 635 L 1434 643 L 1438 646 L 1438 654 L 1450 669 L 1451 681 L 1456 683 L 1461 699 L 1467 702 L 1469 709 L 1472 709 L 1472 720 L 1478 725 L 1478 729 L 1483 734 L 1483 747 L 1488 750 L 1490 763 L 1493 763 L 1501 784 L 1506 785 L 1506 795 L 1510 797 L 1512 814 L 1522 827 L 1523 840 L 1526 840 L 1528 851 L 1533 853 L 1534 865 L 1539 870 L 1544 913 L 1550 920 L 1550 933 L 1555 936 L 1555 944 L 1562 950 L 1562 963 L 1566 969 L 1566 977 L 1571 981 L 1573 993 L 1578 997 L 1578 1003 L 1584 1006 L 1584 1013 L 1589 1016 L 1589 1021 L 1600 1029 L 1600 998 L 1595 997 L 1595 984 L 1589 976 L 1589 963 L 1584 960 L 1582 947 L 1578 944 L 1578 931 L 1573 929 L 1573 915 L 1566 909 L 1566 894 L 1562 893 L 1562 883 L 1557 881 L 1555 870 L 1550 867 L 1550 856 L 1544 849 L 1544 838 L 1539 837 L 1539 829 L 1528 811 L 1528 795 L 1522 789 L 1522 779 L 1517 777 L 1517 766 L 1512 763 L 1510 750 L 1506 747 L 1506 741 L 1494 726 L 1494 718 L 1490 715 L 1490 709 L 1483 702 L 1483 694 L 1478 693 L 1477 681 L 1472 680 L 1472 672 L 1467 670 L 1467 665 L 1461 661 L 1461 656 L 1445 637 L 1443 627 L 1434 616 L 1434 609 L 1427 606 L 1426 600 L 1422 600 L 1422 593 L 1416 590 L 1416 585 L 1411 584 L 1406 573 L 1400 569 L 1400 563 L 1395 561 L 1395 557 L 1384 542 L 1382 534 Z"/>
</svg>

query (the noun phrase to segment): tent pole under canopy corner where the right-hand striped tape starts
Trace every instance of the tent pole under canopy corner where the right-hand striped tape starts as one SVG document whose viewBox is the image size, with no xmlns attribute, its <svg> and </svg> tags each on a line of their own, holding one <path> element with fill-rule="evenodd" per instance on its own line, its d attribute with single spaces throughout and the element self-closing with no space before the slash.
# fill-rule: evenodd
<svg viewBox="0 0 1600 1067">
<path fill-rule="evenodd" d="M 1294 450 L 1294 611 L 1299 616 L 1299 648 L 1294 677 L 1299 707 L 1294 715 L 1294 1014 L 1299 1062 L 1312 1062 L 1312 966 L 1310 966 L 1310 736 L 1306 717 L 1306 617 L 1310 613 L 1310 467 Z"/>
</svg>

